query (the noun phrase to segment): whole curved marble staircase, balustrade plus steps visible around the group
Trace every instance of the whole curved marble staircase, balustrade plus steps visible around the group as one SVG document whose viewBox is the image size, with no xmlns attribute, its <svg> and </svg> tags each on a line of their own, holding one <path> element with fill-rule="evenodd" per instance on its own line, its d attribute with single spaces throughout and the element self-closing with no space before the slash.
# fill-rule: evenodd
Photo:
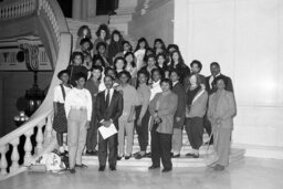
<svg viewBox="0 0 283 189">
<path fill-rule="evenodd" d="M 94 34 L 98 24 L 84 22 L 80 20 L 65 19 L 60 6 L 55 0 L 14 0 L 0 2 L 0 43 L 1 40 L 14 39 L 25 35 L 39 36 L 45 46 L 50 61 L 53 63 L 54 74 L 46 97 L 40 108 L 30 117 L 30 119 L 18 129 L 0 138 L 0 180 L 25 171 L 28 166 L 44 153 L 56 148 L 55 133 L 52 129 L 53 118 L 53 88 L 59 84 L 56 74 L 65 69 L 70 62 L 70 55 L 73 44 L 76 42 L 76 31 L 83 25 L 90 25 Z M 20 30 L 19 30 L 20 29 Z M 109 25 L 111 30 L 115 28 Z M 133 46 L 135 40 L 123 33 L 125 39 L 130 41 Z M 72 39 L 73 35 L 73 39 Z M 38 129 L 35 136 L 35 146 L 31 143 L 31 136 L 34 128 Z M 25 137 L 24 160 L 19 165 L 19 143 L 20 137 Z M 207 138 L 206 138 L 207 139 Z M 134 153 L 138 151 L 137 136 L 135 135 Z M 11 154 L 8 154 L 10 149 Z M 189 153 L 190 146 L 187 136 L 184 134 L 184 148 L 181 154 Z M 34 153 L 33 153 L 34 151 Z M 199 159 L 188 159 L 184 156 L 174 159 L 174 167 L 203 167 L 206 146 L 201 148 Z M 232 149 L 230 161 L 235 162 L 243 158 L 244 150 Z M 11 165 L 8 165 L 7 156 L 10 156 Z M 86 165 L 97 165 L 97 157 L 83 156 Z M 144 158 L 136 160 L 118 161 L 118 166 L 149 166 L 150 159 Z"/>
</svg>

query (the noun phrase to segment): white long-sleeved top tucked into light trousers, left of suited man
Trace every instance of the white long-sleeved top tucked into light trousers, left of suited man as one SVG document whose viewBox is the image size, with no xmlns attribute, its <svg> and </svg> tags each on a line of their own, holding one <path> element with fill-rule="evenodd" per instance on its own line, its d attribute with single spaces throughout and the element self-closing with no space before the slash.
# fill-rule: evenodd
<svg viewBox="0 0 283 189">
<path fill-rule="evenodd" d="M 65 112 L 66 116 L 69 115 L 72 107 L 75 108 L 86 108 L 87 113 L 87 120 L 92 119 L 92 112 L 93 112 L 93 101 L 92 95 L 88 90 L 77 90 L 72 88 L 65 99 Z"/>
</svg>

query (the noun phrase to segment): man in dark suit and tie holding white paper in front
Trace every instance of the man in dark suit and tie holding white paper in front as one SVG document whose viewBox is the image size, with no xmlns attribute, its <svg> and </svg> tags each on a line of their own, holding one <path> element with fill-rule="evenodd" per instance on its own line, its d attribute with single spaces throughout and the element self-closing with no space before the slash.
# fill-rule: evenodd
<svg viewBox="0 0 283 189">
<path fill-rule="evenodd" d="M 104 77 L 106 90 L 97 94 L 96 113 L 99 126 L 109 127 L 114 124 L 118 130 L 118 118 L 123 113 L 123 95 L 113 88 L 114 78 L 109 75 Z M 98 160 L 99 171 L 105 170 L 107 159 L 107 146 L 109 151 L 108 162 L 109 169 L 116 170 L 117 158 L 117 134 L 103 139 L 98 137 Z"/>
</svg>

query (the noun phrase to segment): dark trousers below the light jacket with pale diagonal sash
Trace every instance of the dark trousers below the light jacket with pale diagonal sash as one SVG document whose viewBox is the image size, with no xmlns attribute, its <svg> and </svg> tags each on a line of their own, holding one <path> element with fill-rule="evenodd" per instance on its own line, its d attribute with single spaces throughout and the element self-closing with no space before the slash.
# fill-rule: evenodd
<svg viewBox="0 0 283 189">
<path fill-rule="evenodd" d="M 203 118 L 186 118 L 186 132 L 192 149 L 199 149 L 202 145 Z"/>
</svg>

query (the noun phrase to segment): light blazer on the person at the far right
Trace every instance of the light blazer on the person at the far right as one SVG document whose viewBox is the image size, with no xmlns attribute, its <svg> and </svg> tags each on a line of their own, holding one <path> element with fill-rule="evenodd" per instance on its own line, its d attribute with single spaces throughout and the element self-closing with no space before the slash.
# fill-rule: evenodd
<svg viewBox="0 0 283 189">
<path fill-rule="evenodd" d="M 213 126 L 218 125 L 222 128 L 233 128 L 233 117 L 237 114 L 234 95 L 232 92 L 222 91 L 217 96 L 217 93 L 213 93 L 209 97 L 208 106 L 208 118 Z M 218 99 L 217 99 L 218 98 Z M 220 124 L 217 124 L 217 119 L 220 118 Z"/>
</svg>

